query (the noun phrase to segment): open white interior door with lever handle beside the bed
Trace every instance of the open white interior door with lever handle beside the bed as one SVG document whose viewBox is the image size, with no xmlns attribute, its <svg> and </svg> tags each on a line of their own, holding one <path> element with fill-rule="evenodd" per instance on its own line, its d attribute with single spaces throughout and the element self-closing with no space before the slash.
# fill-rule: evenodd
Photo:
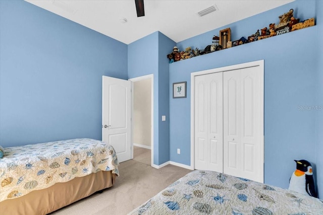
<svg viewBox="0 0 323 215">
<path fill-rule="evenodd" d="M 116 150 L 118 161 L 131 159 L 131 82 L 102 77 L 102 141 Z"/>
</svg>

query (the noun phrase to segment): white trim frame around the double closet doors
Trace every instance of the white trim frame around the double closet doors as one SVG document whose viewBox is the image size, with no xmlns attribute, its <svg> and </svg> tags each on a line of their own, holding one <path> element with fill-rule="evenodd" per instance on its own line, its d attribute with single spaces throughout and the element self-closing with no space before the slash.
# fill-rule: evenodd
<svg viewBox="0 0 323 215">
<path fill-rule="evenodd" d="M 220 73 L 222 71 L 229 71 L 229 70 L 235 70 L 235 69 L 241 69 L 241 68 L 248 68 L 248 67 L 254 67 L 259 66 L 262 70 L 264 70 L 264 60 L 257 60 L 247 63 L 241 63 L 236 65 L 230 65 L 230 66 L 224 66 L 220 68 L 212 68 L 207 69 L 203 71 L 196 71 L 194 73 L 191 73 L 191 169 L 195 169 L 195 76 L 201 76 L 206 75 L 210 73 Z M 264 138 L 263 138 L 263 147 L 264 147 Z M 264 153 L 264 150 L 262 149 L 262 152 Z M 261 156 L 262 159 L 264 159 L 264 154 Z M 264 160 L 263 160 L 264 163 Z M 263 171 L 264 173 L 264 171 Z"/>
</svg>

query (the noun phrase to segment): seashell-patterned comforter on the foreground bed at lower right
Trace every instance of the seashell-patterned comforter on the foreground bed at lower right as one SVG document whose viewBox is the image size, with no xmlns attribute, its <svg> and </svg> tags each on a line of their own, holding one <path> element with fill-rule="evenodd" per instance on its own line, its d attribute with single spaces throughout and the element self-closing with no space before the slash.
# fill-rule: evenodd
<svg viewBox="0 0 323 215">
<path fill-rule="evenodd" d="M 218 172 L 195 170 L 129 214 L 323 214 L 320 199 Z"/>
</svg>

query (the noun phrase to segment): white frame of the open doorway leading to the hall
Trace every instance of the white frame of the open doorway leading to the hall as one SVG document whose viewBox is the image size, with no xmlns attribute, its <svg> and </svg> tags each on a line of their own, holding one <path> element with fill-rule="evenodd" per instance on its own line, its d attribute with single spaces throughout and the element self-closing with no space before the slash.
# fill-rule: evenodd
<svg viewBox="0 0 323 215">
<path fill-rule="evenodd" d="M 131 116 L 134 109 L 134 82 L 150 79 L 151 82 L 151 162 L 153 165 L 153 74 L 128 79 L 131 82 Z M 131 159 L 133 159 L 133 120 L 131 120 Z"/>
</svg>

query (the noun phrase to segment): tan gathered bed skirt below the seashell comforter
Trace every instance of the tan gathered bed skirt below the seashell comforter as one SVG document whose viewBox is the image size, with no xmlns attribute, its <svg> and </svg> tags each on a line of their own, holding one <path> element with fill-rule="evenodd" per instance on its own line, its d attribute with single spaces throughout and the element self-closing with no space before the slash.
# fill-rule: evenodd
<svg viewBox="0 0 323 215">
<path fill-rule="evenodd" d="M 116 177 L 112 171 L 100 171 L 65 183 L 56 183 L 46 189 L 0 202 L 0 214 L 47 214 L 111 187 Z"/>
</svg>

